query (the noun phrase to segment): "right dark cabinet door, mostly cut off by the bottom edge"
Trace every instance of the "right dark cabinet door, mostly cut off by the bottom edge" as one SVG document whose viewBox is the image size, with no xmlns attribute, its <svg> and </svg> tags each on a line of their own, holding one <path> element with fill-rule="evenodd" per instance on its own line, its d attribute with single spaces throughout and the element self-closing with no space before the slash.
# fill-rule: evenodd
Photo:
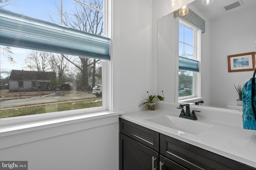
<svg viewBox="0 0 256 170">
<path fill-rule="evenodd" d="M 188 170 L 187 168 L 173 162 L 172 160 L 165 158 L 164 156 L 160 155 L 160 170 Z"/>
</svg>

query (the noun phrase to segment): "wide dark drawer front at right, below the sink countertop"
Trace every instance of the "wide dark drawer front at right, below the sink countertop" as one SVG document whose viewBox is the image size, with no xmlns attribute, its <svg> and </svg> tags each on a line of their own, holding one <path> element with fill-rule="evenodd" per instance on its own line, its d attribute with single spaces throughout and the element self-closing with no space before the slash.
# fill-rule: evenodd
<svg viewBox="0 0 256 170">
<path fill-rule="evenodd" d="M 251 166 L 160 134 L 160 154 L 192 170 L 256 170 Z"/>
</svg>

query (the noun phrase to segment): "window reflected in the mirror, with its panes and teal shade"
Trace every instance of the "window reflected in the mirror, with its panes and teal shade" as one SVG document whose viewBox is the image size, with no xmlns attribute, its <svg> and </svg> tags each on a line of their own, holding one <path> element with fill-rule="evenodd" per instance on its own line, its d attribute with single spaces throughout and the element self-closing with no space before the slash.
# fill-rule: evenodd
<svg viewBox="0 0 256 170">
<path fill-rule="evenodd" d="M 190 68 L 191 64 L 198 64 L 199 52 L 196 47 L 200 38 L 196 35 L 198 29 L 194 26 L 180 21 L 179 24 L 179 84 L 178 96 L 179 99 L 199 97 L 196 87 L 200 86 L 196 81 L 199 77 L 199 72 Z M 182 65 L 182 66 L 181 66 Z"/>
</svg>

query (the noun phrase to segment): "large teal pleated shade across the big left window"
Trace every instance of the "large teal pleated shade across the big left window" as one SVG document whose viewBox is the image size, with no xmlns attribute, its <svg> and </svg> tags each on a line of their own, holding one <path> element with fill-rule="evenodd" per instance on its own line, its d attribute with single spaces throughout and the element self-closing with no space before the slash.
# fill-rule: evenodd
<svg viewBox="0 0 256 170">
<path fill-rule="evenodd" d="M 110 60 L 110 39 L 0 9 L 0 45 Z"/>
</svg>

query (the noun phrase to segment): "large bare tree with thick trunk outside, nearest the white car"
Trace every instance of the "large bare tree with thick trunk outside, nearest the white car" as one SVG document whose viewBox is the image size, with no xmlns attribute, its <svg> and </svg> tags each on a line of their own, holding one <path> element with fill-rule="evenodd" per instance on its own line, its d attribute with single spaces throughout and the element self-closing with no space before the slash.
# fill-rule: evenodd
<svg viewBox="0 0 256 170">
<path fill-rule="evenodd" d="M 98 9 L 103 9 L 103 0 L 83 0 L 81 1 L 85 4 L 89 4 L 90 6 L 94 6 Z M 56 6 L 57 8 L 57 18 L 60 20 L 60 8 Z M 53 18 L 50 16 L 50 20 L 52 22 L 56 22 L 53 20 Z M 94 10 L 92 8 L 89 8 L 87 6 L 84 6 L 83 4 L 76 3 L 76 6 L 74 10 L 72 10 L 72 14 L 68 14 L 67 12 L 63 12 L 63 18 L 62 23 L 65 26 L 78 29 L 81 31 L 85 31 L 88 33 L 93 33 L 96 35 L 103 35 L 103 13 L 99 12 L 97 10 Z M 66 57 L 65 57 L 66 58 Z M 96 63 L 100 60 L 93 59 L 93 62 L 90 63 L 89 61 L 92 61 L 92 59 L 87 57 L 79 57 L 81 63 L 75 64 L 74 62 L 70 61 L 74 66 L 76 66 L 81 71 L 81 86 L 86 87 L 88 86 L 88 70 L 89 66 L 94 67 L 94 71 L 92 73 L 92 86 L 95 85 L 95 66 Z"/>
</svg>

